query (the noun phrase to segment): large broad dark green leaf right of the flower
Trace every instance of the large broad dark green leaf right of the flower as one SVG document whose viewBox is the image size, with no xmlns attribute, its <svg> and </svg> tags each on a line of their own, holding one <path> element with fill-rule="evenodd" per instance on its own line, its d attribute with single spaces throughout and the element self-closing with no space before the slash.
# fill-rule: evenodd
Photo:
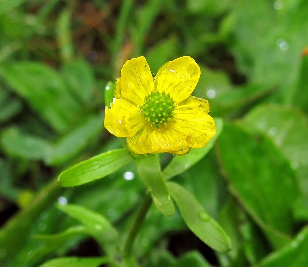
<svg viewBox="0 0 308 267">
<path fill-rule="evenodd" d="M 290 165 L 271 142 L 233 124 L 225 125 L 218 144 L 231 191 L 274 245 L 283 245 L 292 233 L 290 214 L 298 193 Z"/>
</svg>

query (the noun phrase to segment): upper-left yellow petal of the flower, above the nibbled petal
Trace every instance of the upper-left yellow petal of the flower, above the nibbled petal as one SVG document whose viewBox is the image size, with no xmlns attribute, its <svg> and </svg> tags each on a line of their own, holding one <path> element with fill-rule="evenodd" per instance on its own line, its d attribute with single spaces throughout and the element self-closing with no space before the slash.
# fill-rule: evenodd
<svg viewBox="0 0 308 267">
<path fill-rule="evenodd" d="M 145 97 L 154 90 L 154 80 L 144 57 L 130 59 L 121 70 L 117 98 L 124 98 L 133 105 L 143 105 Z"/>
</svg>

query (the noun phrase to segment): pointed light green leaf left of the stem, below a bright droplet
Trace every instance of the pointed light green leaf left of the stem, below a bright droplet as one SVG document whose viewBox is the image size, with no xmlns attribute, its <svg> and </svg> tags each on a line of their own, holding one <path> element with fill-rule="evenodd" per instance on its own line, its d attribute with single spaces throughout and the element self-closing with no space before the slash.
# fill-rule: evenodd
<svg viewBox="0 0 308 267">
<path fill-rule="evenodd" d="M 107 252 L 112 253 L 112 256 L 114 256 L 118 233 L 101 214 L 76 204 L 58 205 L 58 208 L 81 222 L 85 226 L 86 231 L 91 234 Z"/>
</svg>

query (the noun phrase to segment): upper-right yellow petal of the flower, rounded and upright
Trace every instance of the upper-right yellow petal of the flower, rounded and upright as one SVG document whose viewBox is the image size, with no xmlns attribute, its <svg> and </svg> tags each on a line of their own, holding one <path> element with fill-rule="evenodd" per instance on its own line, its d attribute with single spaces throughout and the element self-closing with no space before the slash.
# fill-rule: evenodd
<svg viewBox="0 0 308 267">
<path fill-rule="evenodd" d="M 164 64 L 155 78 L 154 87 L 159 92 L 169 93 L 176 104 L 189 97 L 200 78 L 200 67 L 189 56 Z"/>
</svg>

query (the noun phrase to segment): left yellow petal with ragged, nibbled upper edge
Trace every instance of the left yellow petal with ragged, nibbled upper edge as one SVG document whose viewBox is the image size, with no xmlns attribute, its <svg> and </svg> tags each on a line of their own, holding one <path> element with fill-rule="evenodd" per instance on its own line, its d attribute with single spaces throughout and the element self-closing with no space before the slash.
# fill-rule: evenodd
<svg viewBox="0 0 308 267">
<path fill-rule="evenodd" d="M 125 99 L 113 99 L 111 109 L 105 109 L 105 128 L 115 136 L 134 136 L 142 127 L 145 119 L 140 114 L 140 109 Z"/>
</svg>

